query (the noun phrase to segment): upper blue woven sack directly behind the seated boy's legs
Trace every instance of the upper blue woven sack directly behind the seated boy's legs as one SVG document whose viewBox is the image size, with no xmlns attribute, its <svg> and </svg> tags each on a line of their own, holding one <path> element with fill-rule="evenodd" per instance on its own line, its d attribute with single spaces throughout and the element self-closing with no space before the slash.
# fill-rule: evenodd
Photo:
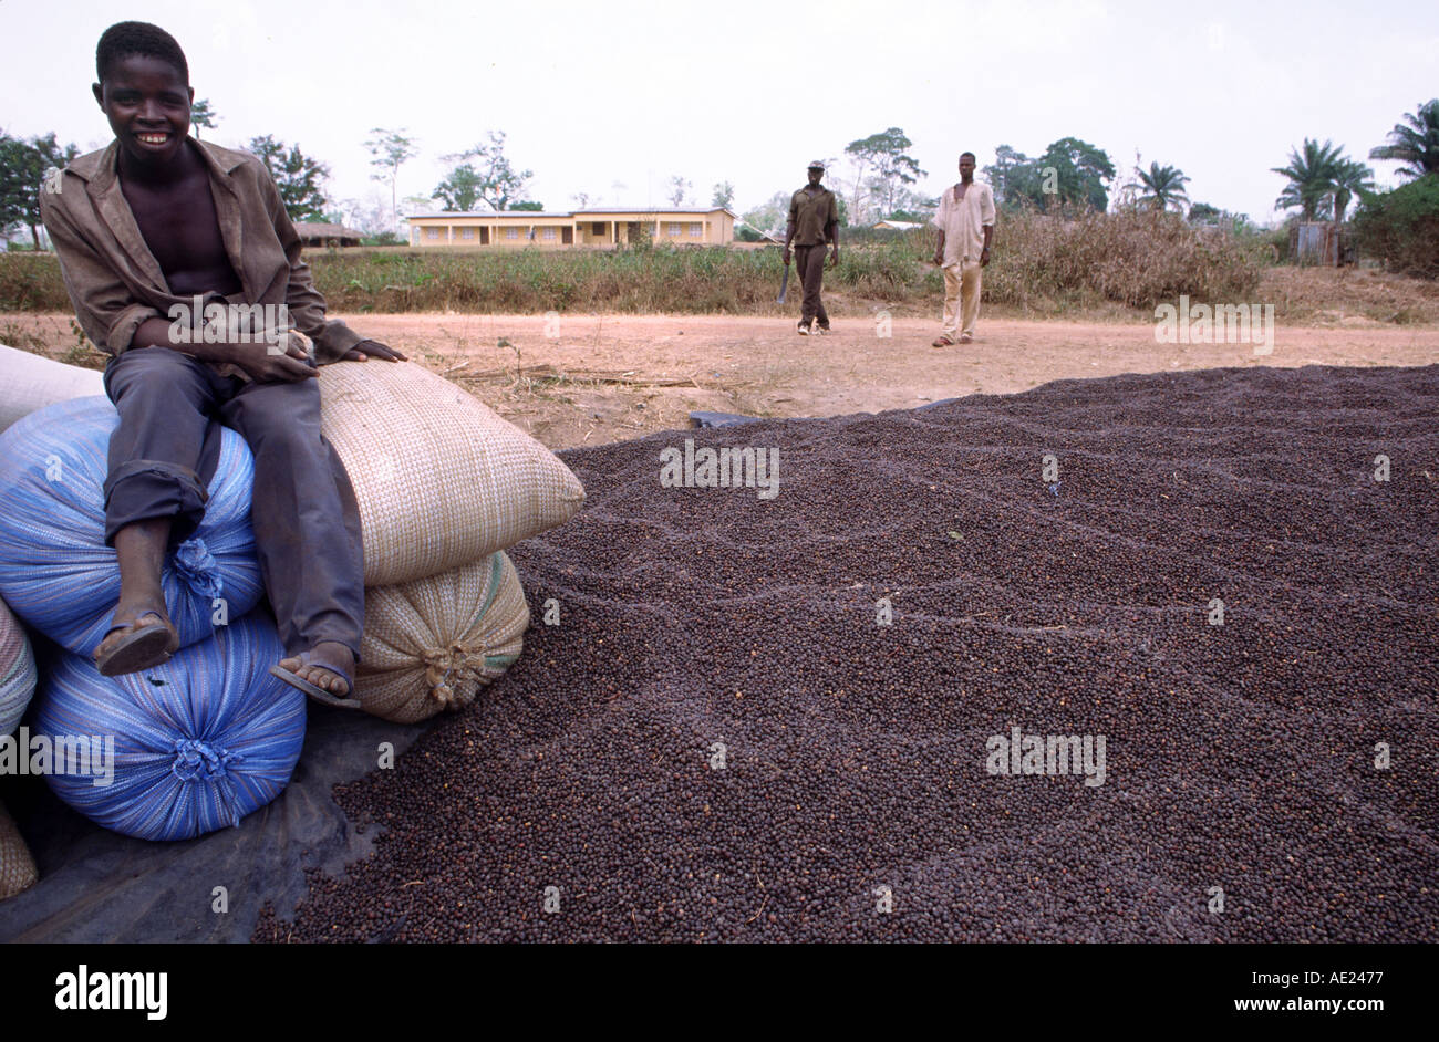
<svg viewBox="0 0 1439 1042">
<path fill-rule="evenodd" d="M 119 599 L 104 493 L 118 424 L 108 398 L 76 398 L 0 434 L 0 596 L 82 655 L 99 647 Z M 245 615 L 263 594 L 250 530 L 253 480 L 249 446 L 224 428 L 204 520 L 167 555 L 160 576 L 180 647 L 210 637 L 216 618 Z"/>
</svg>

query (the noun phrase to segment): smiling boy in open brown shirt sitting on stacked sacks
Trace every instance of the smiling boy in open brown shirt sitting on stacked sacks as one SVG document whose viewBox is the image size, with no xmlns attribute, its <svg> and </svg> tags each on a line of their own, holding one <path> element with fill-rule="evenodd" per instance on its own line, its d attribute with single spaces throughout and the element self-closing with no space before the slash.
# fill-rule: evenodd
<svg viewBox="0 0 1439 1042">
<path fill-rule="evenodd" d="M 360 519 L 319 434 L 314 366 L 404 355 L 325 319 L 263 164 L 189 137 L 194 91 L 174 37 L 121 22 L 101 36 L 95 66 L 115 141 L 46 184 L 42 216 L 81 326 L 111 355 L 105 391 L 119 412 L 105 540 L 121 591 L 96 667 L 134 673 L 176 650 L 160 569 L 204 515 L 224 424 L 255 454 L 255 545 L 288 655 L 271 671 L 321 701 L 358 706 L 344 696 L 364 618 Z M 217 313 L 275 322 L 201 326 Z"/>
</svg>

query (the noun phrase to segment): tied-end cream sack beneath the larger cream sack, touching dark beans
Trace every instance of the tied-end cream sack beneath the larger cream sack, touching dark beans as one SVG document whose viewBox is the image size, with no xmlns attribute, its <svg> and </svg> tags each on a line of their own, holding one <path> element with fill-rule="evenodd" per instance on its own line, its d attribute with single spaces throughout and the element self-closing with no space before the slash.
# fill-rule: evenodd
<svg viewBox="0 0 1439 1042">
<path fill-rule="evenodd" d="M 502 552 L 374 586 L 364 595 L 355 694 L 367 711 L 396 723 L 463 709 L 519 657 L 528 625 L 519 573 Z"/>
</svg>

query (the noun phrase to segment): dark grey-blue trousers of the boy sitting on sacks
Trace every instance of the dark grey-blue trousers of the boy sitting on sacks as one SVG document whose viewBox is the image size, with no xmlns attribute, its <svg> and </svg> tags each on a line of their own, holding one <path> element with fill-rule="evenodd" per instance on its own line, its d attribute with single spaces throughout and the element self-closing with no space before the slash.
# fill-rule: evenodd
<svg viewBox="0 0 1439 1042">
<path fill-rule="evenodd" d="M 131 348 L 105 368 L 119 412 L 109 438 L 105 542 L 131 522 L 173 517 L 170 542 L 204 515 L 220 458 L 220 428 L 255 454 L 250 523 L 265 592 L 286 655 L 321 641 L 360 655 L 364 550 L 354 487 L 319 435 L 319 385 L 217 377 L 170 348 Z"/>
</svg>

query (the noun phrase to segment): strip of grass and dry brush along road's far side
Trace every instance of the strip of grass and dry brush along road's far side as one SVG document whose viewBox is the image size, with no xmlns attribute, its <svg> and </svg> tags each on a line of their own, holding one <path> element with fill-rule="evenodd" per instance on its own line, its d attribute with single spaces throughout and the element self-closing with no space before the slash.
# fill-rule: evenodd
<svg viewBox="0 0 1439 1042">
<path fill-rule="evenodd" d="M 943 277 L 928 264 L 931 231 L 855 239 L 846 243 L 842 234 L 843 262 L 825 273 L 827 289 L 866 305 L 932 305 L 943 295 Z M 774 302 L 783 272 L 778 247 L 361 249 L 317 250 L 307 262 L 330 308 L 344 313 L 784 310 Z M 1206 237 L 1173 214 L 1006 216 L 984 273 L 984 298 L 1039 313 L 1115 303 L 1153 308 L 1180 293 L 1243 300 L 1259 273 L 1252 243 Z M 790 292 L 797 296 L 799 287 Z M 68 310 L 52 254 L 0 254 L 0 312 Z"/>
</svg>

